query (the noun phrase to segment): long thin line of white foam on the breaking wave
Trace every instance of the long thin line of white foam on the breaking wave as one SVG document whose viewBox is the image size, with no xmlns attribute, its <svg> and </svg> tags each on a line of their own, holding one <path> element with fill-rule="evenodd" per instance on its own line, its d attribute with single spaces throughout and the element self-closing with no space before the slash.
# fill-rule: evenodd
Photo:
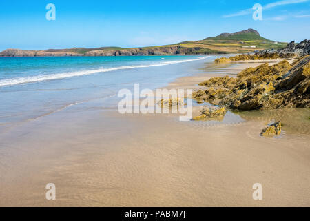
<svg viewBox="0 0 310 221">
<path fill-rule="evenodd" d="M 123 69 L 132 69 L 132 68 L 148 68 L 148 67 L 156 67 L 156 66 L 165 66 L 169 64 L 179 64 L 179 63 L 184 63 L 184 62 L 189 62 L 189 61 L 198 61 L 198 60 L 206 59 L 207 57 L 209 56 L 200 57 L 198 59 L 167 61 L 167 62 L 161 62 L 158 64 L 147 64 L 147 65 L 138 65 L 138 66 L 120 66 L 116 68 L 99 68 L 95 70 L 81 70 L 81 71 L 76 71 L 76 72 L 59 73 L 59 74 L 51 74 L 51 75 L 16 77 L 16 78 L 11 78 L 11 79 L 0 80 L 0 87 L 10 86 L 14 84 L 34 83 L 34 82 L 39 82 L 39 81 L 50 81 L 50 80 L 55 80 L 55 79 L 68 78 L 68 77 L 78 77 L 78 76 L 83 76 L 83 75 L 92 75 L 95 73 L 109 72 L 113 70 L 123 70 Z"/>
</svg>

